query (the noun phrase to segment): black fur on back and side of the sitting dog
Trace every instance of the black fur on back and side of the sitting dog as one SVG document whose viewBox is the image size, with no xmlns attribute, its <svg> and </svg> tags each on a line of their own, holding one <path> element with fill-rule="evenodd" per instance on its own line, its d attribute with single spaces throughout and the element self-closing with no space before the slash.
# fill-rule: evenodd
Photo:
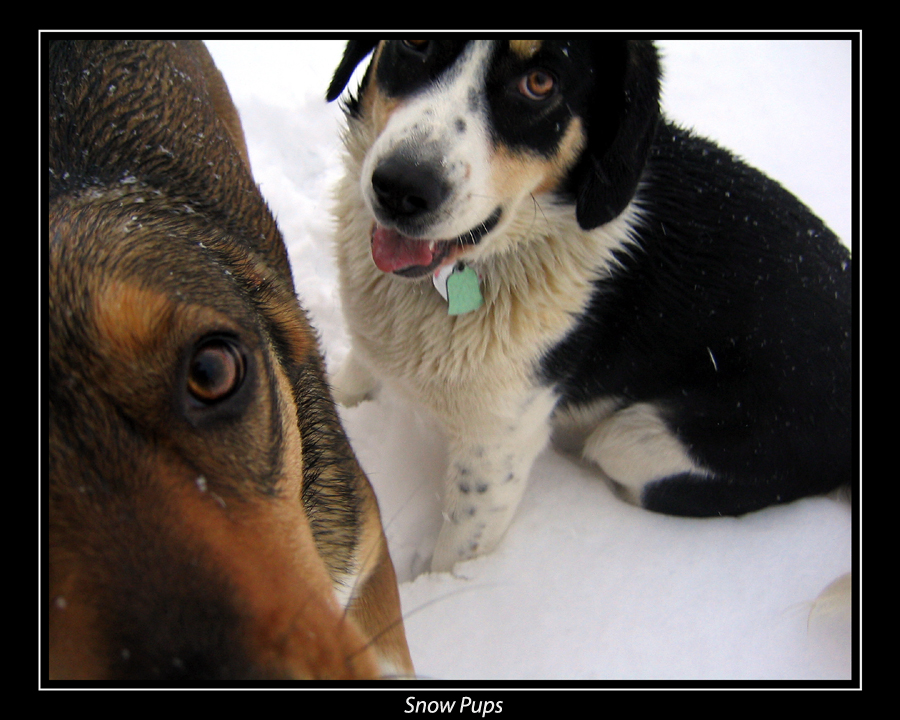
<svg viewBox="0 0 900 720">
<path fill-rule="evenodd" d="M 637 204 L 636 243 L 543 360 L 561 405 L 657 403 L 700 464 L 756 488 L 729 502 L 705 486 L 696 506 L 660 500 L 666 512 L 736 514 L 848 482 L 848 249 L 778 183 L 665 121 Z"/>
</svg>

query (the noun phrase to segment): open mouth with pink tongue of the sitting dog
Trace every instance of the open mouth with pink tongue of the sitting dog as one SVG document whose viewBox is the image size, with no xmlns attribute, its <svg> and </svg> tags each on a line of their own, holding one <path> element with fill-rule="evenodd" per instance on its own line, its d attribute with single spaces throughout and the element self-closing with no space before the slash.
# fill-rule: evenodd
<svg viewBox="0 0 900 720">
<path fill-rule="evenodd" d="M 466 247 L 477 245 L 497 226 L 501 214 L 497 208 L 487 220 L 452 240 L 409 237 L 376 222 L 372 228 L 372 259 L 382 272 L 407 278 L 424 277 L 453 261 Z"/>
</svg>

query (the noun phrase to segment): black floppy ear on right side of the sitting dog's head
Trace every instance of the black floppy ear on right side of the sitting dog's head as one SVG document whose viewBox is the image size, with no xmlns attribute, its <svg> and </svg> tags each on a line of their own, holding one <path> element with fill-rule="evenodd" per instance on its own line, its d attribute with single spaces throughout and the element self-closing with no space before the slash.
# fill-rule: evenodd
<svg viewBox="0 0 900 720">
<path fill-rule="evenodd" d="M 588 142 L 575 168 L 575 213 L 585 230 L 621 213 L 637 190 L 659 121 L 659 57 L 647 40 L 597 40 Z"/>
</svg>

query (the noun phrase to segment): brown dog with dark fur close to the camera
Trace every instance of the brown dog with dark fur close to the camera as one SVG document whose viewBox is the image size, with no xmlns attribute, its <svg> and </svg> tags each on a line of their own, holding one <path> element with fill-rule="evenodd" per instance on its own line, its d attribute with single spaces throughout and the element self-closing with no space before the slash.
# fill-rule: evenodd
<svg viewBox="0 0 900 720">
<path fill-rule="evenodd" d="M 411 675 L 206 48 L 54 42 L 48 76 L 50 678 Z"/>
</svg>

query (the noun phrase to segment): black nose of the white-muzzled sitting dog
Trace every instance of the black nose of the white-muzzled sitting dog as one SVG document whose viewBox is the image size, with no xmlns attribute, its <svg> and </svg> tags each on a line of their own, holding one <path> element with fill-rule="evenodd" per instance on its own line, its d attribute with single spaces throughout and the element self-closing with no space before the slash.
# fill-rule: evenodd
<svg viewBox="0 0 900 720">
<path fill-rule="evenodd" d="M 432 163 L 392 156 L 372 173 L 372 190 L 392 220 L 421 217 L 437 210 L 449 187 Z"/>
</svg>

